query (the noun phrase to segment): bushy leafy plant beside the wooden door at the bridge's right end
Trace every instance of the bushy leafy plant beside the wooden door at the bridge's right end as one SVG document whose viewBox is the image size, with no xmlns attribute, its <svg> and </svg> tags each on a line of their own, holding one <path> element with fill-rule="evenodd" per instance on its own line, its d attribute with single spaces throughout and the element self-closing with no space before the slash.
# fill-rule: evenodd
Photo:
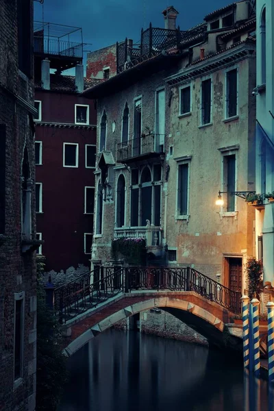
<svg viewBox="0 0 274 411">
<path fill-rule="evenodd" d="M 262 286 L 262 261 L 256 258 L 249 258 L 246 264 L 248 296 L 250 299 L 256 295 L 260 301 L 260 293 Z"/>
</svg>

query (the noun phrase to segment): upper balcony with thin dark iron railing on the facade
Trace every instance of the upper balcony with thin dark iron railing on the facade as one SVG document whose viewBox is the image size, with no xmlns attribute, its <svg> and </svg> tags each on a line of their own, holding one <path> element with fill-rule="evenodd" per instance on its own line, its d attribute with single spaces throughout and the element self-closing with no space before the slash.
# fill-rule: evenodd
<svg viewBox="0 0 274 411">
<path fill-rule="evenodd" d="M 117 162 L 130 163 L 158 158 L 164 153 L 165 134 L 142 134 L 140 138 L 117 144 Z"/>
</svg>

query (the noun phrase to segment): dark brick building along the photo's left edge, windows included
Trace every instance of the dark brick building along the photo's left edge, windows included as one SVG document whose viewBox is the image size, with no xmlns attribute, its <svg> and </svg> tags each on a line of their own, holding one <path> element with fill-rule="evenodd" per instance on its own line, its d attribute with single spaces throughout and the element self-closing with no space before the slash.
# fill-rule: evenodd
<svg viewBox="0 0 274 411">
<path fill-rule="evenodd" d="M 0 1 L 0 409 L 34 410 L 33 2 Z"/>
</svg>

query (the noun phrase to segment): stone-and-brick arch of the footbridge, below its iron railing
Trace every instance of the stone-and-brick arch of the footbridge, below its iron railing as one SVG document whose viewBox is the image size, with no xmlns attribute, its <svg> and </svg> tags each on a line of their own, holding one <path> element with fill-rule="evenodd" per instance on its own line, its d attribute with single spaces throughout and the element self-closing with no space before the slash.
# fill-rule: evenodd
<svg viewBox="0 0 274 411">
<path fill-rule="evenodd" d="M 112 327 L 115 323 L 121 320 L 127 319 L 129 316 L 138 314 L 139 312 L 149 310 L 151 308 L 161 308 L 171 314 L 175 315 L 178 319 L 184 321 L 190 327 L 197 329 L 200 334 L 215 338 L 221 341 L 223 336 L 223 330 L 225 328 L 225 322 L 227 322 L 227 310 L 218 306 L 213 301 L 208 301 L 201 296 L 197 296 L 195 292 L 188 292 L 188 296 L 185 295 L 184 299 L 176 298 L 176 296 L 147 296 L 144 299 L 139 294 L 140 301 L 132 301 L 133 295 L 130 297 L 124 297 L 123 304 L 121 299 L 117 301 L 119 304 L 117 310 L 112 310 L 110 313 L 105 313 L 103 316 L 103 310 L 99 312 L 99 321 L 95 323 L 90 321 L 92 315 L 85 316 L 85 318 L 72 325 L 67 325 L 67 334 L 71 334 L 70 343 L 64 348 L 64 354 L 66 356 L 72 356 L 73 353 L 82 348 L 88 341 L 92 340 L 95 336 L 101 334 L 106 329 Z M 190 298 L 188 298 L 190 297 Z M 195 302 L 193 298 L 195 297 Z M 112 304 L 113 308 L 116 303 Z M 121 306 L 123 308 L 121 308 Z M 90 313 L 91 314 L 91 313 Z M 192 319 L 192 321 L 191 321 Z M 196 325 L 193 325 L 193 320 Z"/>
</svg>

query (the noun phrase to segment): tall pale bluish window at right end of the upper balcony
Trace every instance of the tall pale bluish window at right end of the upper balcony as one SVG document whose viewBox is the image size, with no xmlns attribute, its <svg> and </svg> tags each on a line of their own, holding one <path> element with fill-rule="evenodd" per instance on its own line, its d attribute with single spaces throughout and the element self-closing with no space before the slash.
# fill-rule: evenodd
<svg viewBox="0 0 274 411">
<path fill-rule="evenodd" d="M 157 90 L 155 94 L 155 151 L 163 153 L 166 132 L 166 92 Z"/>
</svg>

